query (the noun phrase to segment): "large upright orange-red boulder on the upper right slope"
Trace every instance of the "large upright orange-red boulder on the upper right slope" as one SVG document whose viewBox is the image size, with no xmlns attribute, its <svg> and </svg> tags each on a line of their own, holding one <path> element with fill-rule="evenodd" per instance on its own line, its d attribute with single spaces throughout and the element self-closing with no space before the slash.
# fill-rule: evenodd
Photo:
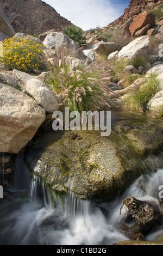
<svg viewBox="0 0 163 256">
<path fill-rule="evenodd" d="M 135 35 L 137 31 L 139 31 L 141 28 L 145 27 L 148 24 L 151 25 L 151 28 L 155 26 L 155 16 L 145 11 L 144 13 L 141 13 L 135 17 L 134 21 L 129 27 L 129 31 L 131 35 Z"/>
</svg>

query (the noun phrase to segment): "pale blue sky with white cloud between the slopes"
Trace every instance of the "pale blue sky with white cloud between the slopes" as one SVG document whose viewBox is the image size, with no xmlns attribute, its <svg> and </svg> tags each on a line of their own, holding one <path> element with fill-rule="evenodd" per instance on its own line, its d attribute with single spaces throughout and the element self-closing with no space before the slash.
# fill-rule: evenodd
<svg viewBox="0 0 163 256">
<path fill-rule="evenodd" d="M 105 27 L 120 17 L 130 0 L 43 0 L 84 31 Z"/>
</svg>

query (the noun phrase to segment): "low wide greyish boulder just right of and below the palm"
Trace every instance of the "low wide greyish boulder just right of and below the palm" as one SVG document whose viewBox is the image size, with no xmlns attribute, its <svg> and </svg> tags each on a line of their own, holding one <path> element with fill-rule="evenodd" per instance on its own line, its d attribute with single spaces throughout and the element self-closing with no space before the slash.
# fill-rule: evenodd
<svg viewBox="0 0 163 256">
<path fill-rule="evenodd" d="M 92 50 L 99 55 L 109 56 L 110 53 L 115 51 L 120 51 L 122 49 L 122 45 L 117 42 L 98 42 L 95 45 L 90 45 L 86 47 L 86 50 Z"/>
</svg>

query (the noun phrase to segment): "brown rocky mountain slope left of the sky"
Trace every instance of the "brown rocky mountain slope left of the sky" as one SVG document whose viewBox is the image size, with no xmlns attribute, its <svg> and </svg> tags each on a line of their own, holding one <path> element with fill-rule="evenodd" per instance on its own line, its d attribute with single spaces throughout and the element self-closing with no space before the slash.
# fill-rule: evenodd
<svg viewBox="0 0 163 256">
<path fill-rule="evenodd" d="M 41 0 L 0 0 L 0 4 L 15 32 L 39 36 L 51 29 L 59 32 L 73 25 Z"/>
</svg>

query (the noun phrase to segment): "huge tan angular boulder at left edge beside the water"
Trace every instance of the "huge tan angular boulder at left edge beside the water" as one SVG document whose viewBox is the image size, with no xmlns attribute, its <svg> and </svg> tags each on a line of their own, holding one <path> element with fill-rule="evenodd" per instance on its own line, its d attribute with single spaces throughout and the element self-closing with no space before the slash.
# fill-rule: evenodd
<svg viewBox="0 0 163 256">
<path fill-rule="evenodd" d="M 0 83 L 0 152 L 17 154 L 45 120 L 45 110 L 19 90 Z"/>
</svg>

